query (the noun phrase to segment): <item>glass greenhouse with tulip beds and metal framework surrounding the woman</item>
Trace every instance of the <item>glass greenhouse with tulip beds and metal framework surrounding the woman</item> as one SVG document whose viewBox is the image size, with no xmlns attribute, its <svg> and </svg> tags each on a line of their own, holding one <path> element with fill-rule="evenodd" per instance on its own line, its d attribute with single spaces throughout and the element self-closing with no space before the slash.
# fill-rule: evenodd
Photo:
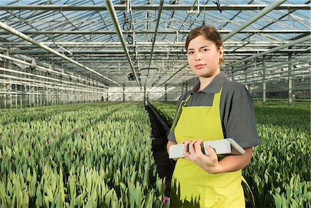
<svg viewBox="0 0 311 208">
<path fill-rule="evenodd" d="M 200 26 L 252 101 L 246 207 L 311 207 L 310 2 L 1 0 L 0 207 L 174 207 L 167 144 L 203 83 Z"/>
</svg>

